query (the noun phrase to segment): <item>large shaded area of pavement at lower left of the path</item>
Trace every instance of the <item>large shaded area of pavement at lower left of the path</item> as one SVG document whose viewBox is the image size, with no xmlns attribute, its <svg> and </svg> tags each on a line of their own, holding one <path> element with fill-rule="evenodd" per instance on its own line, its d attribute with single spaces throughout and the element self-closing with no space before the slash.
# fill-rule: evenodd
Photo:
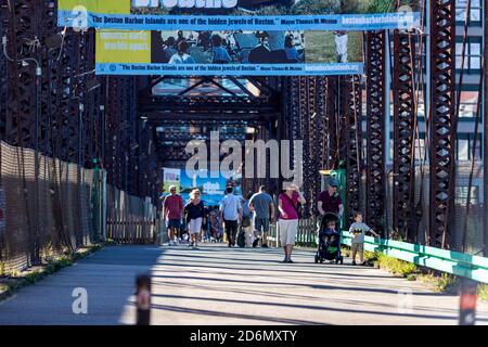
<svg viewBox="0 0 488 347">
<path fill-rule="evenodd" d="M 136 290 L 136 275 L 151 272 L 162 250 L 110 246 L 0 303 L 1 324 L 119 324 Z M 85 288 L 89 314 L 74 314 L 74 288 Z"/>
</svg>

